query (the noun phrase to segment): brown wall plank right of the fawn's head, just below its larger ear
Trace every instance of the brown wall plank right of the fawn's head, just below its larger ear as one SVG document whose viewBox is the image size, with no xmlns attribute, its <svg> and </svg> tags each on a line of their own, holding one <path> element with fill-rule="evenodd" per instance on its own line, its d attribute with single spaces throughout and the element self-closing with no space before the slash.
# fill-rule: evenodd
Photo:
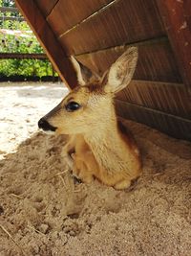
<svg viewBox="0 0 191 256">
<path fill-rule="evenodd" d="M 131 81 L 117 100 L 156 109 L 191 120 L 191 103 L 180 83 Z"/>
</svg>

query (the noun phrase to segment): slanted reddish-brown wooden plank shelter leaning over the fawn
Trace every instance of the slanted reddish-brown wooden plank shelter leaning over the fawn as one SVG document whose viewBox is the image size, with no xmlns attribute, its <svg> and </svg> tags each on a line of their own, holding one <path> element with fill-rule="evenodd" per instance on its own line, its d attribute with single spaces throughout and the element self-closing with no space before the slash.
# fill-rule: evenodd
<svg viewBox="0 0 191 256">
<path fill-rule="evenodd" d="M 76 85 L 74 55 L 103 73 L 138 46 L 134 81 L 117 113 L 191 140 L 190 0 L 16 0 L 63 81 Z"/>
</svg>

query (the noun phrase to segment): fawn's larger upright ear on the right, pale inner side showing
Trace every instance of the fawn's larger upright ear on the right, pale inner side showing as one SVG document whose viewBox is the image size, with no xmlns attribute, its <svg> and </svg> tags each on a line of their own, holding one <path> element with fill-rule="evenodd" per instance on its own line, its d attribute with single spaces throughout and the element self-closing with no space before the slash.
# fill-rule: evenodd
<svg viewBox="0 0 191 256">
<path fill-rule="evenodd" d="M 117 93 L 132 80 L 138 61 L 138 48 L 130 47 L 110 67 L 102 80 L 105 92 Z"/>
</svg>

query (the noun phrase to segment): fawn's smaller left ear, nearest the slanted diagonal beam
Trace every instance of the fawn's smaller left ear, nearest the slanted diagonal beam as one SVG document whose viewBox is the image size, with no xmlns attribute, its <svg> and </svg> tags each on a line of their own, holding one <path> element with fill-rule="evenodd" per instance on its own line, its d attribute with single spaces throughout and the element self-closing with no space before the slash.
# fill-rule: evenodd
<svg viewBox="0 0 191 256">
<path fill-rule="evenodd" d="M 74 66 L 79 85 L 83 86 L 88 82 L 99 80 L 99 77 L 94 72 L 82 63 L 78 62 L 73 56 L 71 56 L 71 61 Z"/>
</svg>

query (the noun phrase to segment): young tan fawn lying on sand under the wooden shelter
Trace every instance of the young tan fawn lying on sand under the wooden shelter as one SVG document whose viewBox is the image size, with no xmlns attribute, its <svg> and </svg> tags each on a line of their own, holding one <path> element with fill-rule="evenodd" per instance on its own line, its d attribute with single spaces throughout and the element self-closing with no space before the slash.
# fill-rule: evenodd
<svg viewBox="0 0 191 256">
<path fill-rule="evenodd" d="M 141 164 L 134 138 L 117 120 L 114 97 L 132 80 L 138 50 L 129 48 L 102 79 L 71 60 L 80 86 L 41 118 L 38 126 L 70 135 L 63 156 L 75 176 L 84 182 L 96 177 L 106 185 L 126 189 L 141 175 Z"/>
</svg>

